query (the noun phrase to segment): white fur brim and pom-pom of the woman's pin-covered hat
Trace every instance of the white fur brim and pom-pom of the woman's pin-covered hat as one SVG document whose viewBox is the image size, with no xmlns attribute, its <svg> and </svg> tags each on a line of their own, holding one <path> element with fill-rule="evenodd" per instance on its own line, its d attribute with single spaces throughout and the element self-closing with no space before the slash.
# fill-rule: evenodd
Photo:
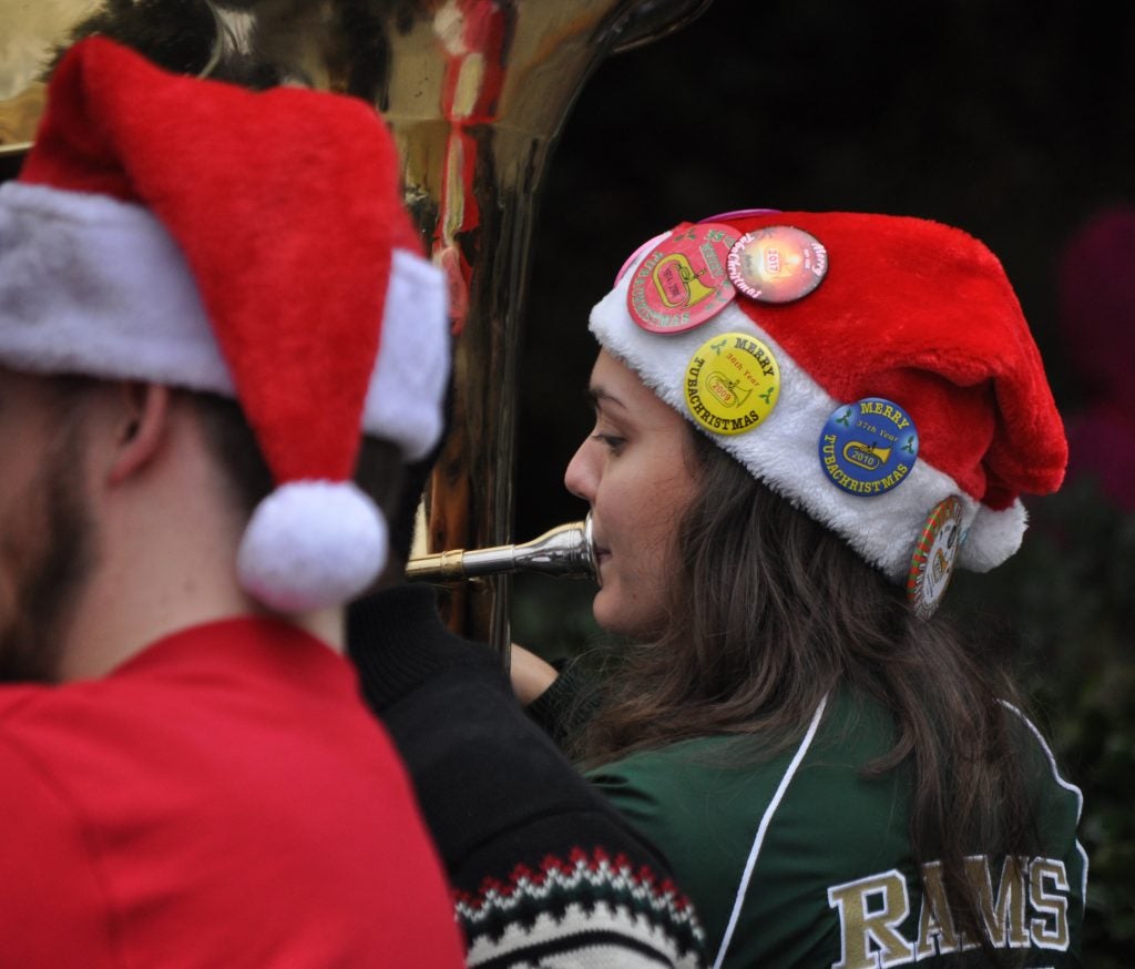
<svg viewBox="0 0 1135 969">
<path fill-rule="evenodd" d="M 890 579 L 906 580 L 927 516 L 951 495 L 964 508 L 967 538 L 958 559 L 961 567 L 984 572 L 1017 550 L 1025 528 L 1019 500 L 1004 512 L 993 512 L 922 457 L 907 479 L 885 494 L 863 497 L 838 488 L 821 466 L 818 441 L 832 413 L 852 402 L 832 398 L 735 303 L 691 330 L 664 335 L 644 330 L 627 310 L 633 277 L 628 271 L 591 311 L 590 329 L 599 343 L 755 478 L 841 536 Z M 703 343 L 730 331 L 753 334 L 768 346 L 780 365 L 781 386 L 776 406 L 757 429 L 714 435 L 693 420 L 686 405 L 686 370 Z"/>
</svg>

